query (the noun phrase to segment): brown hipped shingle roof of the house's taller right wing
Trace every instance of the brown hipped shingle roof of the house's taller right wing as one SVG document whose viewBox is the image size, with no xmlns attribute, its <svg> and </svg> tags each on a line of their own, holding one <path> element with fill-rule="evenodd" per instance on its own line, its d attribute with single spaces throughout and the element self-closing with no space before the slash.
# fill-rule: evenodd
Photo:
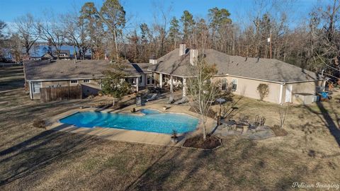
<svg viewBox="0 0 340 191">
<path fill-rule="evenodd" d="M 201 54 L 202 55 L 202 54 Z M 278 59 L 245 58 L 230 56 L 217 50 L 205 50 L 204 59 L 209 64 L 216 64 L 217 75 L 240 76 L 263 81 L 293 82 L 321 79 L 312 71 L 307 71 L 293 64 Z M 158 59 L 158 64 L 149 67 L 149 71 L 159 71 L 175 76 L 189 76 L 190 50 L 179 56 L 179 49 L 175 49 Z"/>
</svg>

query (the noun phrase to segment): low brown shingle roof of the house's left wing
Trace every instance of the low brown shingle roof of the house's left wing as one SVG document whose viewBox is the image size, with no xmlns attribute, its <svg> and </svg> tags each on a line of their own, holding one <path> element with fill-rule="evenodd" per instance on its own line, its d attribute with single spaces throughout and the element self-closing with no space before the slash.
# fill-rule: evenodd
<svg viewBox="0 0 340 191">
<path fill-rule="evenodd" d="M 34 61 L 25 62 L 25 74 L 27 80 L 42 79 L 101 79 L 103 71 L 110 69 L 111 63 L 107 60 L 80 60 L 74 63 L 74 60 L 57 60 L 57 61 Z M 148 63 L 142 64 L 125 64 L 125 73 L 127 76 L 139 76 L 146 71 Z M 138 71 L 137 69 L 138 68 Z"/>
</svg>

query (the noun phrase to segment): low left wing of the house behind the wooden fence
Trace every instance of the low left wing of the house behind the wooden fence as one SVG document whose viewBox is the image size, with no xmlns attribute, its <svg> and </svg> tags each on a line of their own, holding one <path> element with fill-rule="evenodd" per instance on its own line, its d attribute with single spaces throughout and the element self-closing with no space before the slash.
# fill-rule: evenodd
<svg viewBox="0 0 340 191">
<path fill-rule="evenodd" d="M 57 86 L 77 86 L 81 84 L 83 96 L 96 95 L 101 90 L 103 71 L 110 69 L 111 63 L 107 60 L 41 60 L 24 63 L 26 86 L 32 100 L 40 99 L 40 88 Z M 132 83 L 135 91 L 149 83 L 150 74 L 147 71 L 149 63 L 125 64 L 126 81 Z M 137 86 L 138 84 L 138 86 Z"/>
</svg>

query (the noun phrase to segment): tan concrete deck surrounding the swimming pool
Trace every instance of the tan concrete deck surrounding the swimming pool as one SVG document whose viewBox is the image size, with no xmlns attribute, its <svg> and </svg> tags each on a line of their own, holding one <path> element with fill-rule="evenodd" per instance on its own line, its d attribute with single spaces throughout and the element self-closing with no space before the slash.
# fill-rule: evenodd
<svg viewBox="0 0 340 191">
<path fill-rule="evenodd" d="M 141 144 L 157 144 L 164 146 L 182 146 L 186 138 L 196 136 L 200 134 L 202 131 L 202 122 L 198 123 L 198 127 L 193 132 L 188 132 L 186 134 L 179 134 L 179 142 L 176 144 L 171 141 L 171 134 L 161 134 L 156 132 L 142 132 L 136 130 L 127 130 L 127 129 L 115 129 L 115 128 L 105 128 L 105 127 L 75 127 L 73 125 L 67 125 L 59 122 L 63 117 L 67 117 L 69 115 L 74 114 L 75 112 L 84 112 L 84 111 L 100 111 L 100 112 L 120 112 L 120 113 L 131 113 L 130 110 L 135 108 L 137 111 L 141 109 L 155 109 L 160 112 L 175 112 L 186 115 L 191 115 L 193 117 L 199 118 L 199 115 L 195 112 L 189 111 L 188 106 L 182 105 L 169 105 L 170 108 L 164 111 L 164 104 L 158 103 L 148 103 L 147 105 L 135 107 L 135 105 L 130 105 L 122 110 L 112 110 L 112 109 L 104 109 L 100 108 L 78 108 L 69 110 L 67 112 L 63 112 L 60 115 L 55 115 L 50 120 L 47 120 L 47 129 L 63 131 L 63 132 L 72 132 L 72 133 L 80 133 L 80 134 L 91 134 L 99 137 L 103 137 L 104 139 L 110 139 L 113 141 L 127 141 L 127 142 L 135 142 Z M 206 127 L 207 132 L 211 132 L 214 127 L 216 127 L 217 122 L 208 118 Z"/>
</svg>

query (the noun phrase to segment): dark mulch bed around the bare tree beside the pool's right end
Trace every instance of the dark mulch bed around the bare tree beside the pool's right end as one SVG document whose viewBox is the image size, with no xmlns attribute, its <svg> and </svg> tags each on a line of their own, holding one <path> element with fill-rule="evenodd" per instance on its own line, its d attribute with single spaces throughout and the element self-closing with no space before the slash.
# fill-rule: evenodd
<svg viewBox="0 0 340 191">
<path fill-rule="evenodd" d="M 186 139 L 186 141 L 183 144 L 183 146 L 185 147 L 193 147 L 198 149 L 214 149 L 220 145 L 221 145 L 220 139 L 218 139 L 215 136 L 208 135 L 205 141 L 203 141 L 203 135 L 198 135 L 196 137 Z"/>
</svg>

